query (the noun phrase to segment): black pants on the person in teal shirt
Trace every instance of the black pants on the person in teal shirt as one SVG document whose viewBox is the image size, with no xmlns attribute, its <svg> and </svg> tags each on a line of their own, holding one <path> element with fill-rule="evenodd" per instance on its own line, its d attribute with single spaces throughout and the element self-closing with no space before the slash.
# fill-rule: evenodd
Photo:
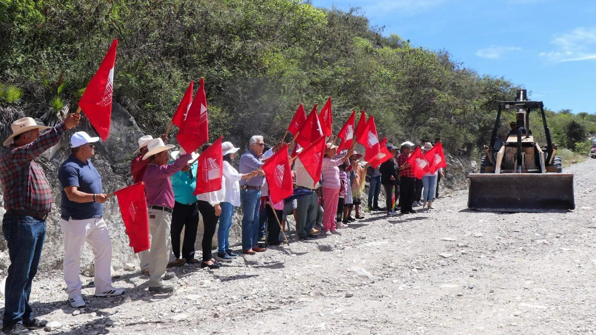
<svg viewBox="0 0 596 335">
<path fill-rule="evenodd" d="M 182 258 L 194 258 L 194 242 L 197 240 L 198 208 L 197 203 L 181 204 L 176 202 L 172 211 L 172 251 L 176 258 L 180 258 L 180 235 L 184 228 L 184 242 L 182 242 Z"/>
</svg>

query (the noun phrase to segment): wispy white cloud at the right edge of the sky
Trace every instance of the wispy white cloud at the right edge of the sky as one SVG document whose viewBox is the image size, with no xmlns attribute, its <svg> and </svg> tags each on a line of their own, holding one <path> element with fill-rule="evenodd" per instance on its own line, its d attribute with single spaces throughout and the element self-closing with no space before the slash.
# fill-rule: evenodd
<svg viewBox="0 0 596 335">
<path fill-rule="evenodd" d="M 543 51 L 539 55 L 550 61 L 596 60 L 596 27 L 579 27 L 569 33 L 552 35 L 554 51 Z"/>
</svg>

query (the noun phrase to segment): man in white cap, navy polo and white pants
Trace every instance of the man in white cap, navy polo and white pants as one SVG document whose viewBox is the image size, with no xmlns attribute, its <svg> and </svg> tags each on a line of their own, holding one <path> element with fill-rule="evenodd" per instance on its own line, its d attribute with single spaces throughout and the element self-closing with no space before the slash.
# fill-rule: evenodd
<svg viewBox="0 0 596 335">
<path fill-rule="evenodd" d="M 95 259 L 95 296 L 124 293 L 123 289 L 112 286 L 110 232 L 103 219 L 103 203 L 108 196 L 103 193 L 100 173 L 91 163 L 94 143 L 99 139 L 86 132 L 73 134 L 71 154 L 58 168 L 62 187 L 60 228 L 64 233 L 64 281 L 70 305 L 75 308 L 85 306 L 79 278 L 80 253 L 85 241 L 91 246 Z"/>
</svg>

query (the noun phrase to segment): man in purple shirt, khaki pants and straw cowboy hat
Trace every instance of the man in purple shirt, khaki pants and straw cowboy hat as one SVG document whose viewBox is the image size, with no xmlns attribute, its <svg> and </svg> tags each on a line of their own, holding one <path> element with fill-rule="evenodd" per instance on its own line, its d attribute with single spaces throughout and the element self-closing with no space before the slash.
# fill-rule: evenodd
<svg viewBox="0 0 596 335">
<path fill-rule="evenodd" d="M 174 193 L 170 176 L 179 170 L 188 171 L 190 154 L 183 154 L 168 165 L 167 151 L 172 144 L 163 144 L 161 138 L 151 139 L 147 143 L 147 153 L 142 157 L 148 160 L 147 170 L 143 176 L 145 194 L 149 214 L 151 232 L 151 248 L 149 249 L 149 290 L 156 293 L 169 293 L 174 290 L 171 285 L 164 285 L 164 278 L 172 278 L 172 272 L 166 274 L 166 266 L 172 250 L 170 226 L 174 207 Z"/>
</svg>

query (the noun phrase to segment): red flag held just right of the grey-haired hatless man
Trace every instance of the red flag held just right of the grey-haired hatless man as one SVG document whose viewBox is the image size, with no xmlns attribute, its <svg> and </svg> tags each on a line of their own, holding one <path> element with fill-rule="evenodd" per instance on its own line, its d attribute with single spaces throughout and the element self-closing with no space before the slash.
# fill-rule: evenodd
<svg viewBox="0 0 596 335">
<path fill-rule="evenodd" d="M 275 151 L 273 156 L 263 164 L 262 169 L 267 178 L 269 196 L 273 203 L 278 203 L 294 193 L 287 144 Z"/>
</svg>

